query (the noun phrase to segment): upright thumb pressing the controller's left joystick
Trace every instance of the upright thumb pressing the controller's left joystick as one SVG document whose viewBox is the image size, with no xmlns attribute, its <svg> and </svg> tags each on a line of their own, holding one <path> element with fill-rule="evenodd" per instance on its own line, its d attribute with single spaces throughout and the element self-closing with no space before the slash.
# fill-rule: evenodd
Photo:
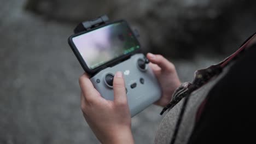
<svg viewBox="0 0 256 144">
<path fill-rule="evenodd" d="M 114 103 L 127 104 L 124 76 L 123 76 L 123 73 L 121 73 L 120 71 L 118 71 L 114 75 L 113 89 L 114 89 Z"/>
</svg>

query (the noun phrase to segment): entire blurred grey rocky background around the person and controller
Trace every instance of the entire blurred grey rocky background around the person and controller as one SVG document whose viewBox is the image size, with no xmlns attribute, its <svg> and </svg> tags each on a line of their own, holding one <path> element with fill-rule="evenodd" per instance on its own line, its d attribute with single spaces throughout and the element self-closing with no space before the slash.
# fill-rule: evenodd
<svg viewBox="0 0 256 144">
<path fill-rule="evenodd" d="M 184 82 L 256 31 L 255 4 L 0 0 L 0 143 L 99 143 L 80 111 L 83 69 L 67 44 L 77 23 L 103 14 L 126 19 L 138 29 L 144 51 L 170 59 Z M 136 143 L 153 143 L 160 111 L 152 105 L 132 118 Z"/>
</svg>

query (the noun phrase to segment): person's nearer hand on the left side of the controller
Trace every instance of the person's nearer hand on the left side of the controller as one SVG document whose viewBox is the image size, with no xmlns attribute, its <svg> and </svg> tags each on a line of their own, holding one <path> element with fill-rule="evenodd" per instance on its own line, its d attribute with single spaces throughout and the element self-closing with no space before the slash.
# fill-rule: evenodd
<svg viewBox="0 0 256 144">
<path fill-rule="evenodd" d="M 79 84 L 81 109 L 98 140 L 101 143 L 134 143 L 123 74 L 118 72 L 114 76 L 114 101 L 102 98 L 86 74 L 80 77 Z"/>
</svg>

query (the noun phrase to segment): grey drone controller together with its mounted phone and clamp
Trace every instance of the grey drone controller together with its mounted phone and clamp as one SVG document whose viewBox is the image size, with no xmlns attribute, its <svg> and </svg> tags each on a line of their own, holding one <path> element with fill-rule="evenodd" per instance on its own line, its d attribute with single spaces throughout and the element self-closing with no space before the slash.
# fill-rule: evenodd
<svg viewBox="0 0 256 144">
<path fill-rule="evenodd" d="M 148 59 L 124 20 L 108 22 L 106 15 L 80 23 L 68 42 L 101 96 L 114 100 L 113 79 L 123 72 L 131 117 L 160 99 L 161 89 Z"/>
</svg>

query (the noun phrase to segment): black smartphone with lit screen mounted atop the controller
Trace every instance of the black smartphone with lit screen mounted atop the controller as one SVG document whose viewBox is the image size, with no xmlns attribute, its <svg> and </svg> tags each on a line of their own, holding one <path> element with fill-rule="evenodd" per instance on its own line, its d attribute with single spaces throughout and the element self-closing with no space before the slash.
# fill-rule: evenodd
<svg viewBox="0 0 256 144">
<path fill-rule="evenodd" d="M 90 75 L 141 52 L 141 45 L 125 20 L 71 35 L 68 43 L 85 72 Z"/>
</svg>

